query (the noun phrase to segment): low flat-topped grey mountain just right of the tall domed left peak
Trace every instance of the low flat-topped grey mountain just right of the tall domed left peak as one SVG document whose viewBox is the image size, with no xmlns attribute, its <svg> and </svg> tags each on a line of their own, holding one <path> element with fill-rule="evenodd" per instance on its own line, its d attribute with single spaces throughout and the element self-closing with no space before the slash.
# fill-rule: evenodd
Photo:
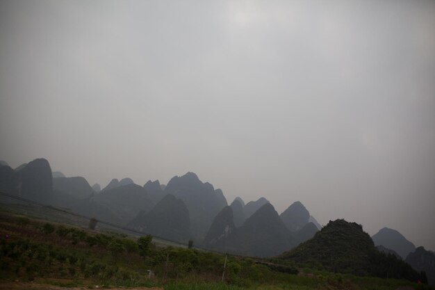
<svg viewBox="0 0 435 290">
<path fill-rule="evenodd" d="M 53 179 L 56 195 L 63 194 L 74 200 L 90 198 L 94 190 L 83 177 L 57 177 Z"/>
</svg>

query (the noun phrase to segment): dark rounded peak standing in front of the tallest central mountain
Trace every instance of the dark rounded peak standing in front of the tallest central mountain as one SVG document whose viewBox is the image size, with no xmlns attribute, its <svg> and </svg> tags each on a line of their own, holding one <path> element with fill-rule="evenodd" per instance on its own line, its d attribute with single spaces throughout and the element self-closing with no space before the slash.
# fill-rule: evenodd
<svg viewBox="0 0 435 290">
<path fill-rule="evenodd" d="M 146 214 L 140 211 L 131 220 L 130 227 L 146 234 L 186 242 L 191 238 L 190 218 L 186 204 L 174 195 L 167 194 L 156 206 Z"/>
</svg>

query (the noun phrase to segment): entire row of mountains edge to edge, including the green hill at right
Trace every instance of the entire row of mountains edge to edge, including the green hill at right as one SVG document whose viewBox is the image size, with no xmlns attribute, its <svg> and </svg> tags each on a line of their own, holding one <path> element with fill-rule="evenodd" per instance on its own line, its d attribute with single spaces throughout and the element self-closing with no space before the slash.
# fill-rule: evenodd
<svg viewBox="0 0 435 290">
<path fill-rule="evenodd" d="M 299 201 L 281 214 L 266 198 L 246 204 L 236 198 L 228 205 L 222 190 L 202 182 L 193 172 L 173 177 L 166 186 L 158 180 L 140 186 L 129 178 L 112 179 L 100 191 L 98 184 L 90 186 L 83 177 L 53 174 L 46 159 L 35 159 L 19 170 L 1 164 L 0 191 L 4 193 L 64 207 L 161 239 L 180 243 L 192 240 L 203 248 L 236 255 L 280 255 L 300 264 L 317 263 L 357 275 L 381 276 L 384 264 L 393 263 L 397 268 L 391 275 L 401 277 L 400 273 L 406 273 L 414 279 L 417 274 L 404 264 L 409 261 L 416 271 L 428 271 L 431 281 L 434 277 L 433 262 L 427 262 L 433 261 L 433 253 L 416 250 L 393 229 L 384 227 L 370 239 L 361 225 L 344 220 L 322 228 Z M 1 201 L 11 202 L 4 197 Z M 322 255 L 313 254 L 318 251 Z M 336 262 L 330 264 L 331 259 Z M 367 268 L 372 272 L 361 270 Z"/>
</svg>

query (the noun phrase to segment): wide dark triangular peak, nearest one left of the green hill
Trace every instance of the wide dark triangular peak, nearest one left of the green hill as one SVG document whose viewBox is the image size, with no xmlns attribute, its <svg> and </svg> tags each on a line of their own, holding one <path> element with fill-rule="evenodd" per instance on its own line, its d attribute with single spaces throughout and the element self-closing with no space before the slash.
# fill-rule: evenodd
<svg viewBox="0 0 435 290">
<path fill-rule="evenodd" d="M 240 255 L 272 257 L 293 248 L 296 243 L 268 202 L 229 236 L 227 249 Z"/>
</svg>

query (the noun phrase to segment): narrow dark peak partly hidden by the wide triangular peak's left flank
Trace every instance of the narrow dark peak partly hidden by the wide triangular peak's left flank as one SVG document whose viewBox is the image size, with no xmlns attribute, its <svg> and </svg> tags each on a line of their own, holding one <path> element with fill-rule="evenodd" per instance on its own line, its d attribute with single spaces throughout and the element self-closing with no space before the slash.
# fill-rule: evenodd
<svg viewBox="0 0 435 290">
<path fill-rule="evenodd" d="M 238 204 L 238 202 L 236 200 Z M 202 242 L 202 246 L 208 249 L 227 250 L 226 241 L 229 236 L 235 232 L 236 226 L 233 223 L 233 210 L 227 206 L 215 216 L 210 229 L 206 234 L 206 238 Z"/>
</svg>

